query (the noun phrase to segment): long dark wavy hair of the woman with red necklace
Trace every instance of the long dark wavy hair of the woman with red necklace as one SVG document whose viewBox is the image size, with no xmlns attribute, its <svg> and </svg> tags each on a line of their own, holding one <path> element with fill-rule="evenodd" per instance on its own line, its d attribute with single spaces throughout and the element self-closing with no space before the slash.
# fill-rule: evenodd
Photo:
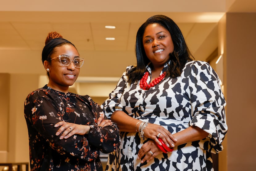
<svg viewBox="0 0 256 171">
<path fill-rule="evenodd" d="M 180 31 L 178 25 L 169 17 L 164 15 L 154 15 L 147 19 L 138 29 L 135 44 L 135 55 L 137 58 L 137 65 L 128 72 L 128 83 L 133 83 L 142 78 L 145 68 L 150 60 L 146 56 L 145 49 L 143 47 L 143 34 L 148 25 L 157 23 L 167 29 L 171 34 L 171 39 L 174 45 L 174 51 L 170 53 L 171 63 L 166 71 L 165 77 L 178 77 L 181 75 L 187 61 L 194 60 L 188 46 L 184 40 L 184 37 Z"/>
</svg>

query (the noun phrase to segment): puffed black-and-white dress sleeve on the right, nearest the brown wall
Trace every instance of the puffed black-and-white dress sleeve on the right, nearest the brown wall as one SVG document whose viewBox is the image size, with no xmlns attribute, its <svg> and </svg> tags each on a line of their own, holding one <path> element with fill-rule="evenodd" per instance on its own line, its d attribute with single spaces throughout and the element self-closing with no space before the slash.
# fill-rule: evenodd
<svg viewBox="0 0 256 171">
<path fill-rule="evenodd" d="M 209 133 L 200 141 L 200 147 L 212 153 L 223 150 L 222 141 L 227 133 L 225 116 L 226 101 L 221 91 L 217 73 L 206 62 L 196 61 L 191 64 L 189 77 L 191 92 L 192 121 L 190 126 L 197 126 Z"/>
</svg>

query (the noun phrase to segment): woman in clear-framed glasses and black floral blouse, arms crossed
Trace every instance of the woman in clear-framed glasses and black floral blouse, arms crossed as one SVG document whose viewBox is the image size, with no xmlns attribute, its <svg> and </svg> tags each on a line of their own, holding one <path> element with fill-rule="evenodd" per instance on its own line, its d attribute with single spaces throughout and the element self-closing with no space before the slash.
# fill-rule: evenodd
<svg viewBox="0 0 256 171">
<path fill-rule="evenodd" d="M 49 83 L 32 91 L 24 104 L 31 170 L 103 170 L 100 151 L 117 149 L 119 130 L 88 95 L 68 91 L 84 59 L 70 41 L 51 32 L 42 62 Z"/>
</svg>

